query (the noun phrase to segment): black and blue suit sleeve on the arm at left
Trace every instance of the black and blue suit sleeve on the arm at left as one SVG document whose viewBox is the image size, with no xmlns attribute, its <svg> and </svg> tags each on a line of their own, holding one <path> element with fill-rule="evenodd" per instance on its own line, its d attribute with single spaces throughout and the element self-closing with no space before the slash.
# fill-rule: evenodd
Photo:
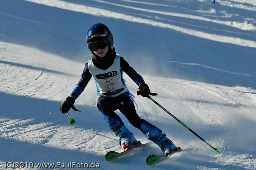
<svg viewBox="0 0 256 170">
<path fill-rule="evenodd" d="M 78 84 L 76 84 L 76 87 L 73 89 L 70 96 L 76 100 L 79 97 L 79 95 L 81 95 L 81 93 L 84 91 L 84 88 L 87 86 L 91 78 L 92 78 L 92 75 L 89 72 L 88 63 L 86 63 L 84 67 L 84 71 L 81 75 L 81 79 L 78 82 Z"/>
</svg>

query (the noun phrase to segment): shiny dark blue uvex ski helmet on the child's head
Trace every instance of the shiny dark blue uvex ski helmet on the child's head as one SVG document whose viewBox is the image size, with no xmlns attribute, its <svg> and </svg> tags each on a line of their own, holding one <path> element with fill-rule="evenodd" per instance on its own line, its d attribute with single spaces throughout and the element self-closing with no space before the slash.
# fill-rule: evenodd
<svg viewBox="0 0 256 170">
<path fill-rule="evenodd" d="M 89 49 L 90 49 L 89 43 L 96 42 L 98 40 L 104 40 L 104 39 L 106 39 L 105 41 L 107 43 L 110 43 L 110 48 L 113 49 L 114 41 L 113 41 L 112 33 L 110 32 L 108 27 L 102 23 L 94 24 L 87 31 L 86 42 Z"/>
</svg>

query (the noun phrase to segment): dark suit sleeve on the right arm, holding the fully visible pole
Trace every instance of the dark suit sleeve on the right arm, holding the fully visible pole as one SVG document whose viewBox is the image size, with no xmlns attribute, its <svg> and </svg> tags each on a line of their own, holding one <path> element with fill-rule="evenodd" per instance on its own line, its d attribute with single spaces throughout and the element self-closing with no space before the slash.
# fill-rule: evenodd
<svg viewBox="0 0 256 170">
<path fill-rule="evenodd" d="M 123 57 L 120 57 L 120 66 L 123 70 L 138 86 L 145 83 L 141 75 L 139 75 Z"/>
</svg>

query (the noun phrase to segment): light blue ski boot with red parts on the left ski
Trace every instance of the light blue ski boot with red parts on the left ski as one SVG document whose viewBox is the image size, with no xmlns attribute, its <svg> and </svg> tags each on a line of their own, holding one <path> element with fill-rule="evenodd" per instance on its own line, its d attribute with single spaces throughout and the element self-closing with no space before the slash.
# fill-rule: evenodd
<svg viewBox="0 0 256 170">
<path fill-rule="evenodd" d="M 140 141 L 137 141 L 134 138 L 134 135 L 123 125 L 116 133 L 116 136 L 119 136 L 119 144 L 124 149 L 124 151 L 141 145 Z"/>
</svg>

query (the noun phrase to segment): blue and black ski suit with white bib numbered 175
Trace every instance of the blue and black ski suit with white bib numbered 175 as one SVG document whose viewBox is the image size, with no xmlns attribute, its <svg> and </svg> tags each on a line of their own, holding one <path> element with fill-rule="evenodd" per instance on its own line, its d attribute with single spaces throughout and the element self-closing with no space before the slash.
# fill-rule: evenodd
<svg viewBox="0 0 256 170">
<path fill-rule="evenodd" d="M 98 92 L 96 105 L 111 130 L 116 133 L 124 125 L 121 118 L 114 112 L 119 109 L 134 127 L 140 129 L 149 140 L 156 142 L 157 139 L 163 136 L 162 131 L 137 114 L 131 94 L 125 85 L 123 72 L 138 86 L 145 83 L 141 75 L 124 58 L 116 55 L 113 64 L 108 69 L 99 69 L 93 64 L 92 60 L 88 61 L 85 64 L 81 80 L 70 96 L 75 99 L 78 98 L 93 76 Z"/>
</svg>

